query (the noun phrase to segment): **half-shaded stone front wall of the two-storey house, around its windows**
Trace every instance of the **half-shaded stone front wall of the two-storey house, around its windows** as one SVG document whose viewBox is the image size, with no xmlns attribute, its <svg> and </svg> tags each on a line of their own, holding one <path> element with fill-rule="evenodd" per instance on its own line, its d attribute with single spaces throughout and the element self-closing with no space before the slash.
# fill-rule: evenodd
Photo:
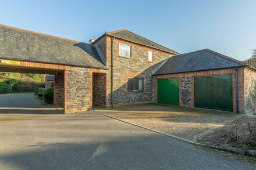
<svg viewBox="0 0 256 170">
<path fill-rule="evenodd" d="M 163 52 L 154 48 L 124 41 L 115 38 L 113 40 L 113 104 L 142 103 L 153 101 L 152 74 L 162 65 L 163 60 L 173 56 L 171 53 Z M 119 56 L 119 43 L 131 45 L 131 57 Z M 106 37 L 106 63 L 108 68 L 111 64 L 111 37 Z M 153 62 L 148 62 L 148 50 L 153 51 Z M 107 74 L 109 81 L 111 72 Z M 127 81 L 129 78 L 144 77 L 143 92 L 127 92 Z M 109 91 L 110 92 L 110 91 Z M 111 104 L 111 95 L 107 104 Z"/>
</svg>

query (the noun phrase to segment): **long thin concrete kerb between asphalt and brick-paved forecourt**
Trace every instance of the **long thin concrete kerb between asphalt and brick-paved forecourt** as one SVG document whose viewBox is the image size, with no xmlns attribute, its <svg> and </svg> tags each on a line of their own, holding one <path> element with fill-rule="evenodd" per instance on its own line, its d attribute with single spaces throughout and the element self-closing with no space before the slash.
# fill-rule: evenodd
<svg viewBox="0 0 256 170">
<path fill-rule="evenodd" d="M 106 114 L 99 113 L 98 111 L 93 111 L 93 112 L 94 112 L 94 113 L 97 113 L 97 114 L 100 114 L 100 115 L 104 115 L 104 116 L 109 117 L 109 118 L 113 118 L 113 119 L 118 120 L 118 121 L 121 121 L 121 122 L 125 122 L 125 123 L 130 124 L 130 125 L 137 126 L 137 127 L 139 127 L 139 128 L 147 129 L 147 130 L 152 131 L 152 132 L 157 132 L 157 133 L 160 133 L 160 134 L 165 135 L 165 136 L 169 136 L 169 137 L 172 137 L 172 138 L 175 138 L 175 139 L 182 140 L 182 141 L 184 141 L 184 142 L 188 142 L 188 143 L 191 143 L 191 144 L 195 144 L 195 145 L 197 145 L 197 146 L 210 147 L 210 148 L 212 148 L 212 149 L 218 149 L 218 150 L 223 150 L 223 151 L 229 151 L 229 152 L 236 153 L 236 154 L 248 155 L 248 156 L 250 156 L 250 157 L 256 157 L 256 151 L 254 151 L 254 150 L 243 150 L 243 149 L 237 149 L 237 148 L 234 148 L 234 147 L 218 147 L 218 146 L 211 146 L 211 145 L 207 145 L 207 144 L 202 144 L 202 143 L 194 142 L 194 141 L 192 141 L 192 140 L 180 138 L 179 136 L 170 135 L 170 134 L 168 134 L 168 133 L 163 133 L 163 132 L 157 131 L 157 130 L 155 130 L 155 129 L 151 129 L 151 128 L 147 128 L 147 127 L 145 127 L 145 126 L 141 126 L 141 125 L 138 125 L 138 124 L 134 124 L 134 123 L 132 123 L 132 122 L 124 121 L 124 120 L 121 120 L 121 119 L 119 119 L 119 118 L 112 117 L 112 116 L 110 116 L 110 115 L 106 115 Z M 242 115 L 241 115 L 241 116 L 242 116 Z"/>
</svg>

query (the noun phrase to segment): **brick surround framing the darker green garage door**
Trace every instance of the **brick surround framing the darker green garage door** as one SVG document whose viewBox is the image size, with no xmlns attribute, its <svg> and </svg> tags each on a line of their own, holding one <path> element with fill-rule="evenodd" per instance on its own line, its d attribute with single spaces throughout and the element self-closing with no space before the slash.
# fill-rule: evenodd
<svg viewBox="0 0 256 170">
<path fill-rule="evenodd" d="M 221 76 L 221 75 L 231 75 L 232 77 L 232 112 L 234 111 L 234 75 L 233 74 L 211 74 L 211 75 L 195 75 L 193 76 L 193 107 L 195 107 L 195 77 L 212 77 L 212 76 Z M 201 107 L 195 107 L 195 108 L 201 108 Z M 210 109 L 210 110 L 216 110 L 214 108 L 204 108 L 204 109 Z M 224 110 L 221 110 L 224 111 Z"/>
</svg>

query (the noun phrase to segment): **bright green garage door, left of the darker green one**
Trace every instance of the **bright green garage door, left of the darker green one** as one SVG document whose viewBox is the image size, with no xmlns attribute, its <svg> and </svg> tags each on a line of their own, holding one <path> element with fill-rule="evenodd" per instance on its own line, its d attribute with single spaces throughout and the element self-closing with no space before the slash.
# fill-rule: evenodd
<svg viewBox="0 0 256 170">
<path fill-rule="evenodd" d="M 179 105 L 179 79 L 158 79 L 158 103 Z"/>
</svg>

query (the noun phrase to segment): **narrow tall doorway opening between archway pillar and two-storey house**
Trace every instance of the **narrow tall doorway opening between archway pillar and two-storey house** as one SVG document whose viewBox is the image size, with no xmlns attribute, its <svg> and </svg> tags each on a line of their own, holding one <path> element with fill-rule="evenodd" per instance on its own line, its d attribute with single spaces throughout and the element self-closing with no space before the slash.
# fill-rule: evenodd
<svg viewBox="0 0 256 170">
<path fill-rule="evenodd" d="M 106 74 L 93 73 L 93 107 L 106 106 Z"/>
</svg>

